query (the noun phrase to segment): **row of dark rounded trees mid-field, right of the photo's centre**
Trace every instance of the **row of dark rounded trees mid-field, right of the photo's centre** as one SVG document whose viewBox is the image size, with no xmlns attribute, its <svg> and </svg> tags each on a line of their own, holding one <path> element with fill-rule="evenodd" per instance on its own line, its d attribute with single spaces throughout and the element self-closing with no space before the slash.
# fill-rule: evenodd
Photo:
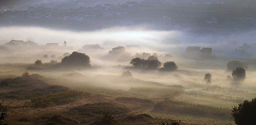
<svg viewBox="0 0 256 125">
<path fill-rule="evenodd" d="M 149 56 L 147 60 L 141 59 L 139 57 L 131 59 L 130 62 L 134 68 L 143 68 L 143 69 L 157 69 L 161 66 L 161 62 L 156 56 Z M 164 71 L 175 71 L 177 70 L 177 65 L 175 62 L 165 62 L 161 70 Z"/>
</svg>

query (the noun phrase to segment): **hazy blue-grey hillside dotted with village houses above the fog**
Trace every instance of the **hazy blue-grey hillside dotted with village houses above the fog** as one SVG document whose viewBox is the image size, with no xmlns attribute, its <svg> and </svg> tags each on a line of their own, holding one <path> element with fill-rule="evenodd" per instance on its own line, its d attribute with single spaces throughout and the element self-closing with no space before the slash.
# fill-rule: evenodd
<svg viewBox="0 0 256 125">
<path fill-rule="evenodd" d="M 239 27 L 253 28 L 256 26 L 256 15 L 246 12 L 253 10 L 255 3 L 248 0 L 237 2 L 234 0 L 144 0 L 95 6 L 86 6 L 81 3 L 82 1 L 79 2 L 79 0 L 70 0 L 26 6 L 23 9 L 2 7 L 0 24 L 6 26 L 29 24 L 32 26 L 55 26 L 56 28 L 72 24 L 72 27 L 62 28 L 77 30 L 146 24 L 152 29 L 190 31 L 204 35 L 214 32 L 215 28 L 223 28 L 222 30 L 228 31 L 237 30 Z M 70 5 L 73 4 L 74 6 L 70 8 Z M 67 5 L 69 8 L 65 8 Z M 162 11 L 165 11 L 164 13 L 157 9 L 159 6 Z M 184 10 L 180 9 L 182 6 Z M 219 9 L 214 9 L 215 7 Z M 241 11 L 233 11 L 238 7 L 241 8 Z M 206 8 L 208 11 L 204 11 Z M 229 15 L 221 13 L 225 10 L 228 10 L 230 16 L 236 14 L 239 17 L 233 20 Z M 198 11 L 202 11 L 207 16 L 198 15 Z M 214 11 L 217 14 L 213 14 Z M 180 17 L 180 14 L 184 16 Z M 49 23 L 53 25 L 49 25 Z M 225 27 L 222 27 L 223 25 Z M 236 27 L 229 29 L 229 25 Z"/>
</svg>

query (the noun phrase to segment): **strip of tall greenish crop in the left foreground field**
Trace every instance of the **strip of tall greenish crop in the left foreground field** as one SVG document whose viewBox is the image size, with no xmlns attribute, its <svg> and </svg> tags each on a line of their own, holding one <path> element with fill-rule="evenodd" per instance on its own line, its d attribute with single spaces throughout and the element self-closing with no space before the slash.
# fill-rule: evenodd
<svg viewBox="0 0 256 125">
<path fill-rule="evenodd" d="M 63 105 L 84 98 L 90 98 L 90 93 L 81 91 L 65 91 L 43 97 L 32 98 L 31 105 L 34 108 L 47 108 L 52 105 Z"/>
</svg>

